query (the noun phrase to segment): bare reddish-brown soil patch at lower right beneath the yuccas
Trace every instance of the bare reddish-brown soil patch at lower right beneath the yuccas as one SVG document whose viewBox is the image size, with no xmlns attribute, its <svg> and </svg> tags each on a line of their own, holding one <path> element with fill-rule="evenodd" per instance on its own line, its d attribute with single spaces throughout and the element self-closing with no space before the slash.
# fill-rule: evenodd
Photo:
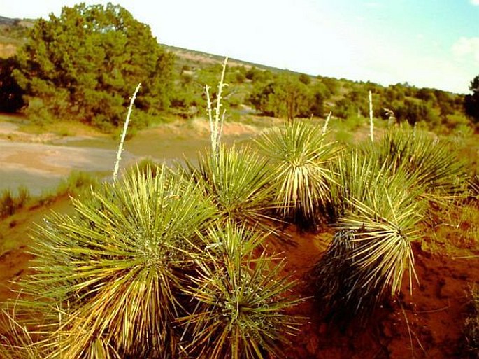
<svg viewBox="0 0 479 359">
<path fill-rule="evenodd" d="M 300 295 L 312 295 L 308 271 L 332 234 L 292 235 L 297 246 L 285 251 L 287 272 L 302 281 Z M 433 255 L 419 244 L 414 252 L 420 283 L 413 283 L 413 294 L 405 278 L 399 298 L 378 309 L 367 325 L 336 328 L 324 321 L 313 299 L 296 307 L 296 314 L 309 319 L 286 349 L 287 358 L 467 358 L 463 326 L 470 286 L 479 279 L 479 260 Z"/>
</svg>

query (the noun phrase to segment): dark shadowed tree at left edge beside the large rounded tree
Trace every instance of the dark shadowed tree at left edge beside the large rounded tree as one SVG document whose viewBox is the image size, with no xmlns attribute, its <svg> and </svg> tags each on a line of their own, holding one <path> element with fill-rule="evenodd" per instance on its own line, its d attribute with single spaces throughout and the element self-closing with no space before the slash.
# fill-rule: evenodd
<svg viewBox="0 0 479 359">
<path fill-rule="evenodd" d="M 23 107 L 22 88 L 12 77 L 12 71 L 18 66 L 13 57 L 0 59 L 0 111 L 17 112 Z"/>
</svg>

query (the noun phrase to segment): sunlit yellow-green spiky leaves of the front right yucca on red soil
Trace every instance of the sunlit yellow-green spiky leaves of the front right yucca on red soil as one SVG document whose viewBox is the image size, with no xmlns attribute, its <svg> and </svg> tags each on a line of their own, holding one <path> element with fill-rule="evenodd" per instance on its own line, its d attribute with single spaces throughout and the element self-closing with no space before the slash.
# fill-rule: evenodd
<svg viewBox="0 0 479 359">
<path fill-rule="evenodd" d="M 410 271 L 410 283 L 415 276 L 410 243 L 418 238 L 422 202 L 410 190 L 401 193 L 384 188 L 369 204 L 356 201 L 353 206 L 355 209 L 338 221 L 340 230 L 354 231 L 355 245 L 348 260 L 364 274 L 364 286 L 379 286 L 385 295 L 399 293 L 404 270 Z"/>
</svg>

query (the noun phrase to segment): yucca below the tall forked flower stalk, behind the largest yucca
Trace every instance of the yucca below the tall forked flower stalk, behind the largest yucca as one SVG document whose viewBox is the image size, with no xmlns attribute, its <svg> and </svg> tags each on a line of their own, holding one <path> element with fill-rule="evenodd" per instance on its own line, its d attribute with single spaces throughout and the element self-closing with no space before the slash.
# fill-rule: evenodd
<svg viewBox="0 0 479 359">
<path fill-rule="evenodd" d="M 199 155 L 197 165 L 187 161 L 185 172 L 213 199 L 218 220 L 267 229 L 273 219 L 266 214 L 271 207 L 271 174 L 267 160 L 255 151 L 222 145 L 217 153 Z"/>
</svg>

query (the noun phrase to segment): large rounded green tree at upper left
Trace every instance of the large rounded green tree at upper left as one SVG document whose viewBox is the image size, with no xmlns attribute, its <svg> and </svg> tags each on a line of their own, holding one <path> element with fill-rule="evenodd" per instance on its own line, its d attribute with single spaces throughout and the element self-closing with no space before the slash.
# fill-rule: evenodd
<svg viewBox="0 0 479 359">
<path fill-rule="evenodd" d="M 173 57 L 121 6 L 81 3 L 38 20 L 17 59 L 13 75 L 34 104 L 30 109 L 50 116 L 117 126 L 139 82 L 138 115 L 169 106 Z"/>
</svg>

